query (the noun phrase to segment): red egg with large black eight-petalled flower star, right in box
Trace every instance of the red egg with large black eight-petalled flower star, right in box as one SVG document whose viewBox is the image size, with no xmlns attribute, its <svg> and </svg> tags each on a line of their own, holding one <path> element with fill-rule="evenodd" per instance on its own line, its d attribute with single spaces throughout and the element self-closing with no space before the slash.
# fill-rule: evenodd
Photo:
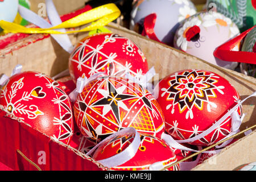
<svg viewBox="0 0 256 182">
<path fill-rule="evenodd" d="M 166 131 L 178 140 L 203 133 L 240 100 L 236 89 L 216 73 L 187 69 L 172 73 L 159 82 L 158 103 L 162 106 Z M 242 115 L 241 107 L 237 109 Z M 224 122 L 207 136 L 190 144 L 208 146 L 231 131 L 232 119 Z"/>
</svg>

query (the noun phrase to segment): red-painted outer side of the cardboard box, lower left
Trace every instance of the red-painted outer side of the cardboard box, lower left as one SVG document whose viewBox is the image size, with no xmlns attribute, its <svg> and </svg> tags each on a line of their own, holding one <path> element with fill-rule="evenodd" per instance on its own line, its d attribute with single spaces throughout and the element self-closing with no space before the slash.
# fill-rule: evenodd
<svg viewBox="0 0 256 182">
<path fill-rule="evenodd" d="M 75 148 L 47 137 L 0 111 L 0 162 L 14 170 L 102 171 L 104 166 Z"/>
</svg>

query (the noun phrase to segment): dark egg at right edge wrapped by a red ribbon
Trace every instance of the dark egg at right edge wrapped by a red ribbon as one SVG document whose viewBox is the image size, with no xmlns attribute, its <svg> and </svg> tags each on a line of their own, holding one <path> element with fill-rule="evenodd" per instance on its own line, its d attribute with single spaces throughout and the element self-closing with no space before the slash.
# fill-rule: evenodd
<svg viewBox="0 0 256 182">
<path fill-rule="evenodd" d="M 256 27 L 253 28 L 245 37 L 241 51 L 256 53 Z M 256 65 L 241 63 L 240 70 L 247 76 L 256 78 Z"/>
</svg>

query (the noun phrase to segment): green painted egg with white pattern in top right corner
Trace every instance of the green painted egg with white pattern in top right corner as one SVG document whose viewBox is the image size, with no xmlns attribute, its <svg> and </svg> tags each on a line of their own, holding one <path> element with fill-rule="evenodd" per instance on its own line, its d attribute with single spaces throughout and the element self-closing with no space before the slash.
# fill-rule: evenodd
<svg viewBox="0 0 256 182">
<path fill-rule="evenodd" d="M 255 0 L 210 0 L 207 7 L 216 8 L 218 13 L 224 14 L 237 24 L 240 31 L 246 31 L 256 24 L 256 1 Z"/>
</svg>

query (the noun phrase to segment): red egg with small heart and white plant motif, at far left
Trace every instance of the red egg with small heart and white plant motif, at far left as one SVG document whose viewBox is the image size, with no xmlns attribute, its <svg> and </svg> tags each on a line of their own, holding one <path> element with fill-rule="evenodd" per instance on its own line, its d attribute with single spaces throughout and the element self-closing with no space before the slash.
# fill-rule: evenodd
<svg viewBox="0 0 256 182">
<path fill-rule="evenodd" d="M 58 82 L 38 72 L 10 77 L 0 105 L 35 130 L 68 144 L 73 135 L 71 101 Z"/>
</svg>

